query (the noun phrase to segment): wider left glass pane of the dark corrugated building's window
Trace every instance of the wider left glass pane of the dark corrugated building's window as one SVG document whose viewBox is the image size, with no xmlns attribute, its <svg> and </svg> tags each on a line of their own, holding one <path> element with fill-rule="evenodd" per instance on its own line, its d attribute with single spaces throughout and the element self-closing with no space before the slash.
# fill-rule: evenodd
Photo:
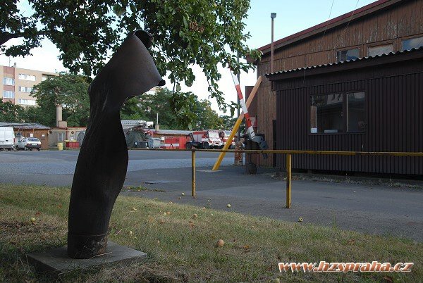
<svg viewBox="0 0 423 283">
<path fill-rule="evenodd" d="M 310 132 L 344 132 L 342 100 L 342 94 L 312 96 Z"/>
</svg>

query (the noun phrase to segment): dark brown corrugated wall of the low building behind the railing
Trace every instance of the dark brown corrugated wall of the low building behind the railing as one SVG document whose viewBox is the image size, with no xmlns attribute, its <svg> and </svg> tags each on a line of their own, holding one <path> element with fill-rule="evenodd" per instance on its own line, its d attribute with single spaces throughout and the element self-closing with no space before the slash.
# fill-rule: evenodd
<svg viewBox="0 0 423 283">
<path fill-rule="evenodd" d="M 423 61 L 274 82 L 278 149 L 423 152 Z M 310 96 L 365 92 L 367 130 L 309 134 Z M 284 156 L 278 166 L 285 170 Z M 423 158 L 293 156 L 293 168 L 423 175 Z"/>
</svg>

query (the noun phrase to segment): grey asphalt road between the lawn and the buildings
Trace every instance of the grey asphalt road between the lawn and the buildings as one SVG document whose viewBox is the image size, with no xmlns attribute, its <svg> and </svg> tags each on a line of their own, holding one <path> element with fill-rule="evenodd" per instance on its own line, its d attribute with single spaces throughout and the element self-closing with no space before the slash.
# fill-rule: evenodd
<svg viewBox="0 0 423 283">
<path fill-rule="evenodd" d="M 130 151 L 125 186 L 147 190 L 124 188 L 121 194 L 287 221 L 302 217 L 302 223 L 423 241 L 423 189 L 294 180 L 292 208 L 286 209 L 285 182 L 271 177 L 272 170 L 245 175 L 228 155 L 220 171 L 210 172 L 217 155 L 197 153 L 197 198 L 192 199 L 190 153 Z M 78 151 L 1 151 L 0 182 L 70 186 L 77 158 Z"/>
</svg>

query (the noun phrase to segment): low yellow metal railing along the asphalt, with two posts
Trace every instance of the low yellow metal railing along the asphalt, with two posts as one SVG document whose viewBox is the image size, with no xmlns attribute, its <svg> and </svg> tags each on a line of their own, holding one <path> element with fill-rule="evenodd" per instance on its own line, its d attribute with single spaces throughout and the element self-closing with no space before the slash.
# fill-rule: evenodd
<svg viewBox="0 0 423 283">
<path fill-rule="evenodd" d="M 293 154 L 317 154 L 317 155 L 338 155 L 338 156 L 417 156 L 423 157 L 423 152 L 374 152 L 374 151 L 291 151 L 283 149 L 133 149 L 147 151 L 191 151 L 191 196 L 195 198 L 195 152 L 224 152 L 224 153 L 278 153 L 286 154 L 286 208 L 291 205 L 291 181 L 292 181 L 292 155 Z"/>
</svg>

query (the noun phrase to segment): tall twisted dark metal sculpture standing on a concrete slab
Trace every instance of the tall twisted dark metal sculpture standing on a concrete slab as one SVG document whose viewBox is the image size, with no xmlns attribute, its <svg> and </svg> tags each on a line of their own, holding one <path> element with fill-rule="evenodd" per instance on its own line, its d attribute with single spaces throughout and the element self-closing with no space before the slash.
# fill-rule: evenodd
<svg viewBox="0 0 423 283">
<path fill-rule="evenodd" d="M 120 110 L 130 97 L 164 85 L 147 48 L 152 37 L 130 34 L 90 84 L 90 120 L 80 149 L 71 191 L 68 256 L 104 253 L 111 210 L 123 187 L 128 149 Z"/>
</svg>

